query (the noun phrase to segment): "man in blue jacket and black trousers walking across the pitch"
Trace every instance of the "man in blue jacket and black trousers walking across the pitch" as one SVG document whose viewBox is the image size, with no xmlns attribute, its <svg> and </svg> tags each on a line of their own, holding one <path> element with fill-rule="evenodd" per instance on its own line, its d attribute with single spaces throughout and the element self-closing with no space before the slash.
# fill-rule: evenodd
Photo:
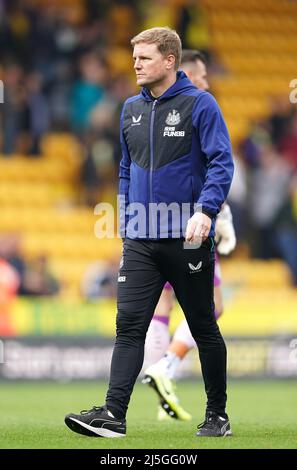
<svg viewBox="0 0 297 470">
<path fill-rule="evenodd" d="M 125 436 L 146 332 L 169 281 L 197 343 L 205 383 L 206 415 L 197 436 L 231 435 L 226 347 L 213 302 L 215 218 L 233 175 L 228 131 L 212 95 L 177 72 L 175 31 L 152 28 L 131 43 L 143 88 L 125 102 L 121 117 L 124 245 L 109 390 L 104 407 L 70 414 L 66 424 L 91 436 Z"/>
</svg>

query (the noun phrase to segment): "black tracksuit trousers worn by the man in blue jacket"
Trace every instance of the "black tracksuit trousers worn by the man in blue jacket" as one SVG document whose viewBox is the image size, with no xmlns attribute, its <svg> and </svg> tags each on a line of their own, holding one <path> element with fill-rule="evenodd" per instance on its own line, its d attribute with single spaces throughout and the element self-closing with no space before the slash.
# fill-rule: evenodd
<svg viewBox="0 0 297 470">
<path fill-rule="evenodd" d="M 169 281 L 198 346 L 207 410 L 225 413 L 226 346 L 214 316 L 213 239 L 195 249 L 185 249 L 182 239 L 126 239 L 121 265 L 107 406 L 119 418 L 126 415 L 143 364 L 146 332 Z"/>
</svg>

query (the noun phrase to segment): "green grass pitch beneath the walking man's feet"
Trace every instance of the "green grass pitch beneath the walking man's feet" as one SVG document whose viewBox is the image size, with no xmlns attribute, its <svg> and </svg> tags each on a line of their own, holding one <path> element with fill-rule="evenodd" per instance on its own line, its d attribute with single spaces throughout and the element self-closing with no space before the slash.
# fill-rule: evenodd
<svg viewBox="0 0 297 470">
<path fill-rule="evenodd" d="M 284 449 L 297 448 L 296 381 L 229 383 L 228 413 L 234 436 L 195 437 L 203 420 L 201 382 L 180 382 L 181 403 L 191 422 L 158 422 L 154 392 L 137 383 L 123 439 L 90 438 L 71 432 L 64 415 L 101 405 L 104 383 L 1 383 L 2 449 Z"/>
</svg>

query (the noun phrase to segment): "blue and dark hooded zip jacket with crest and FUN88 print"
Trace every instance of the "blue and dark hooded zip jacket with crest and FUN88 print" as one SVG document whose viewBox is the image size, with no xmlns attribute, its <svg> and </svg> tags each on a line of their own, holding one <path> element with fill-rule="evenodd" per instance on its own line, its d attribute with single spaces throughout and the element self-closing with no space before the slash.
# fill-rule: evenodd
<svg viewBox="0 0 297 470">
<path fill-rule="evenodd" d="M 188 218 L 199 208 L 212 218 L 214 236 L 233 161 L 222 113 L 210 93 L 198 90 L 182 71 L 158 99 L 143 88 L 124 103 L 121 146 L 122 237 L 182 238 Z M 167 217 L 153 217 L 160 203 L 174 203 L 175 209 Z M 178 215 L 177 209 L 185 207 Z M 180 223 L 173 223 L 179 217 Z"/>
</svg>

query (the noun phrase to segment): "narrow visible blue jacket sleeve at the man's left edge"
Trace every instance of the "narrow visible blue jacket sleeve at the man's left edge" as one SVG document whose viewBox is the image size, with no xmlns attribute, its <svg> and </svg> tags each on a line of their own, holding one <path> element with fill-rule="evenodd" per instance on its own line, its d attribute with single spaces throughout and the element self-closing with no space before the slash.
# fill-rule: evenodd
<svg viewBox="0 0 297 470">
<path fill-rule="evenodd" d="M 130 164 L 131 159 L 124 136 L 123 123 L 124 123 L 125 104 L 121 113 L 120 122 L 120 142 L 122 150 L 122 158 L 120 161 L 119 171 L 119 219 L 120 219 L 120 236 L 125 238 L 126 226 L 128 223 L 127 207 L 129 205 L 129 186 L 130 186 Z"/>
</svg>

